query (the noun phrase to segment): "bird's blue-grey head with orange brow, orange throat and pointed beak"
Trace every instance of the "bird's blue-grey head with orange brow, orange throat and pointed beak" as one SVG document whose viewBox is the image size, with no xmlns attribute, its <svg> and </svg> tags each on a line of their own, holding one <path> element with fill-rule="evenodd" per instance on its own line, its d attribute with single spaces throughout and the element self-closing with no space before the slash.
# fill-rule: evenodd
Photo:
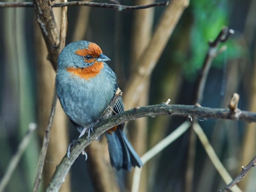
<svg viewBox="0 0 256 192">
<path fill-rule="evenodd" d="M 102 61 L 110 60 L 102 54 L 100 47 L 88 41 L 76 41 L 68 44 L 58 58 L 58 69 L 88 79 L 100 72 Z"/>
</svg>

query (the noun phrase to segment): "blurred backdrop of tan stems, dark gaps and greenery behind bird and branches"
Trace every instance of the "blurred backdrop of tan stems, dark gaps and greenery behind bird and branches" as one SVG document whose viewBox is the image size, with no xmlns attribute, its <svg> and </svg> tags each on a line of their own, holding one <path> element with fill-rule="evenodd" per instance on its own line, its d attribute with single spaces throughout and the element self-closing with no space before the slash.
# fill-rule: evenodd
<svg viewBox="0 0 256 192">
<path fill-rule="evenodd" d="M 123 5 L 153 2 L 120 0 Z M 124 90 L 135 62 L 150 41 L 164 9 L 164 6 L 123 11 L 68 7 L 66 44 L 77 40 L 98 44 L 111 59 L 108 65 L 118 76 L 120 89 Z M 226 25 L 234 29 L 235 34 L 224 43 L 227 49 L 213 60 L 201 105 L 227 108 L 231 95 L 237 92 L 240 95 L 238 108 L 256 112 L 255 10 L 256 0 L 191 0 L 137 105 L 154 105 L 167 99 L 171 99 L 170 104 L 188 105 L 208 41 L 215 39 L 222 26 Z M 53 12 L 57 25 L 60 25 L 61 8 L 53 8 Z M 46 59 L 47 54 L 33 8 L 0 9 L 0 178 L 28 131 L 28 124 L 38 124 L 6 192 L 31 191 L 33 187 L 55 78 L 52 65 Z M 137 119 L 127 126 L 129 139 L 142 156 L 185 120 L 174 116 Z M 235 178 L 242 165 L 247 165 L 256 153 L 255 123 L 198 120 L 221 162 Z M 68 143 L 78 136 L 57 103 L 40 191 L 44 191 L 56 165 L 66 154 Z M 215 192 L 226 186 L 198 139 L 194 177 L 192 184 L 188 183 L 185 177 L 188 140 L 187 131 L 143 166 L 139 191 Z M 61 192 L 131 191 L 133 171 L 116 172 L 110 167 L 105 136 L 93 141 L 86 151 L 88 161 L 85 162 L 82 155 L 78 157 L 60 188 Z M 107 178 L 100 177 L 95 171 L 99 165 L 102 165 L 102 175 Z M 100 184 L 104 178 L 105 186 Z M 255 178 L 254 168 L 238 186 L 244 192 L 256 192 Z M 185 189 L 188 184 L 189 189 Z"/>
</svg>

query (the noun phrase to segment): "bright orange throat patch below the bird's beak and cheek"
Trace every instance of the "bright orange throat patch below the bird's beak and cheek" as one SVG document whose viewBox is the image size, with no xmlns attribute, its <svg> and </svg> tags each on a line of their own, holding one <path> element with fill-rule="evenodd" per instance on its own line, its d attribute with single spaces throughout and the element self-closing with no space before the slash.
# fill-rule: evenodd
<svg viewBox="0 0 256 192">
<path fill-rule="evenodd" d="M 95 61 L 92 66 L 85 67 L 85 68 L 75 68 L 75 67 L 68 67 L 66 70 L 69 73 L 72 73 L 75 76 L 79 76 L 82 79 L 88 80 L 89 78 L 95 77 L 98 73 L 100 73 L 100 69 L 103 68 L 102 61 Z"/>
</svg>

